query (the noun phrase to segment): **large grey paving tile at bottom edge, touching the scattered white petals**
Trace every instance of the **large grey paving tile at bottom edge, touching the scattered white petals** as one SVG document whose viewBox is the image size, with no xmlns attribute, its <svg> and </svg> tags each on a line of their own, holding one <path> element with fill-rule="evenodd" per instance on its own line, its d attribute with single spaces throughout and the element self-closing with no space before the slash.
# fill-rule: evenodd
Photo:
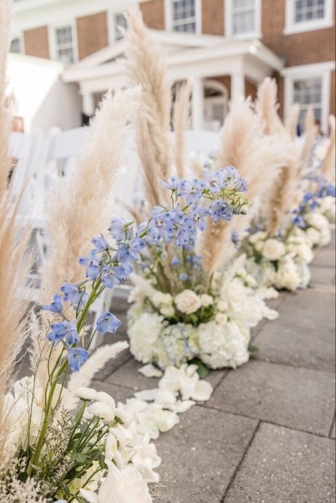
<svg viewBox="0 0 336 503">
<path fill-rule="evenodd" d="M 182 414 L 155 442 L 163 479 L 155 503 L 219 503 L 256 427 L 253 419 L 198 406 Z"/>
</svg>

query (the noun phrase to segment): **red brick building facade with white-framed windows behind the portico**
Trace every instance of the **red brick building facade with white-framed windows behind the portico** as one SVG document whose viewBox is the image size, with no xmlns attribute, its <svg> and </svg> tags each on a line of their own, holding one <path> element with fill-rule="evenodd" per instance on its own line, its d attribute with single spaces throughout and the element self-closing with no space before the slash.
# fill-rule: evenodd
<svg viewBox="0 0 336 503">
<path fill-rule="evenodd" d="M 289 113 L 292 103 L 298 101 L 303 120 L 311 105 L 316 120 L 326 130 L 327 115 L 335 114 L 334 0 L 55 0 L 48 6 L 49 19 L 55 18 L 52 23 L 47 22 L 42 6 L 29 9 L 31 3 L 14 3 L 14 9 L 18 7 L 13 51 L 62 60 L 76 67 L 78 61 L 118 43 L 123 8 L 138 6 L 150 28 L 175 32 L 177 36 L 194 33 L 200 47 L 206 35 L 215 35 L 214 45 L 220 39 L 228 43 L 232 40 L 238 48 L 247 40 L 259 40 L 283 62 L 281 69 L 269 72 L 278 81 L 281 115 Z M 223 45 L 223 54 L 225 47 L 228 44 Z M 259 82 L 252 75 L 245 74 L 239 84 L 245 96 L 255 96 Z M 237 80 L 235 74 L 216 72 L 208 75 L 207 81 L 213 85 L 203 79 L 202 113 L 206 127 L 212 127 L 223 121 L 226 102 L 234 92 L 237 94 Z"/>
</svg>

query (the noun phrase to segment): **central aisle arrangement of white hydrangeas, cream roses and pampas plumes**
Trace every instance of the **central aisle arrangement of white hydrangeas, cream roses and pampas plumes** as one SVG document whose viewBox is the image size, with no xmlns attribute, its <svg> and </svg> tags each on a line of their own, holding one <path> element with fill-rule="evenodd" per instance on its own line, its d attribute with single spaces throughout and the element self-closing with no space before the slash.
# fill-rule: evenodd
<svg viewBox="0 0 336 503">
<path fill-rule="evenodd" d="M 173 147 L 169 138 L 171 89 L 165 65 L 141 18 L 134 13 L 128 18 L 125 41 L 129 81 L 143 88 L 144 113 L 138 123 L 137 145 L 145 201 L 160 205 L 167 200 L 162 187 L 155 185 L 153 173 L 158 170 L 162 178 L 170 177 L 168 185 L 163 183 L 164 188 L 174 189 L 186 203 L 199 188 L 180 179 L 193 169 L 213 194 L 220 193 L 223 187 L 223 175 L 218 176 L 218 169 L 228 165 L 239 166 L 238 171 L 247 179 L 249 198 L 250 193 L 254 198 L 267 189 L 286 154 L 281 145 L 263 137 L 262 121 L 250 106 L 233 108 L 225 121 L 215 165 L 211 169 L 191 166 L 184 146 L 190 83 L 177 90 Z M 229 167 L 226 174 L 235 179 L 236 171 Z M 130 351 L 138 361 L 153 363 L 160 369 L 191 361 L 203 374 L 208 367 L 236 368 L 248 361 L 253 351 L 252 327 L 264 317 L 277 316 L 256 292 L 254 278 L 245 271 L 245 258 L 233 259 L 232 243 L 225 242 L 233 231 L 233 222 L 242 219 L 242 227 L 247 225 L 249 213 L 250 208 L 247 217 L 216 217 L 210 226 L 207 210 L 202 210 L 191 223 L 193 242 L 181 243 L 181 247 L 165 243 L 159 251 L 143 251 L 136 274 L 131 276 L 135 288 L 128 312 Z M 133 214 L 137 217 L 135 210 Z"/>
</svg>

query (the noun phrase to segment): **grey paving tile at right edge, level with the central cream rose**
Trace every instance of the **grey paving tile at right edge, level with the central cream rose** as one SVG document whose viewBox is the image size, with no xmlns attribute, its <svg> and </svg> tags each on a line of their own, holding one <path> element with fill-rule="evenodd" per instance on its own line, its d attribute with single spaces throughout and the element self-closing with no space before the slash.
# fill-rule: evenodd
<svg viewBox="0 0 336 503">
<path fill-rule="evenodd" d="M 315 285 L 314 288 L 288 293 L 279 307 L 279 320 L 294 327 L 335 332 L 335 287 Z"/>
</svg>

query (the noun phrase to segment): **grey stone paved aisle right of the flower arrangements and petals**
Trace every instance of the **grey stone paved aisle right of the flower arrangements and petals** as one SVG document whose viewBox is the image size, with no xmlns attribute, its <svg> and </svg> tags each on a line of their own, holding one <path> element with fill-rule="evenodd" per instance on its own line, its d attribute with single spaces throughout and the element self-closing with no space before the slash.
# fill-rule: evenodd
<svg viewBox="0 0 336 503">
<path fill-rule="evenodd" d="M 312 288 L 274 302 L 279 320 L 254 333 L 258 358 L 212 373 L 211 400 L 160 436 L 156 503 L 335 502 L 334 249 L 316 254 Z M 155 387 L 138 367 L 125 354 L 96 385 L 118 400 Z"/>
</svg>

